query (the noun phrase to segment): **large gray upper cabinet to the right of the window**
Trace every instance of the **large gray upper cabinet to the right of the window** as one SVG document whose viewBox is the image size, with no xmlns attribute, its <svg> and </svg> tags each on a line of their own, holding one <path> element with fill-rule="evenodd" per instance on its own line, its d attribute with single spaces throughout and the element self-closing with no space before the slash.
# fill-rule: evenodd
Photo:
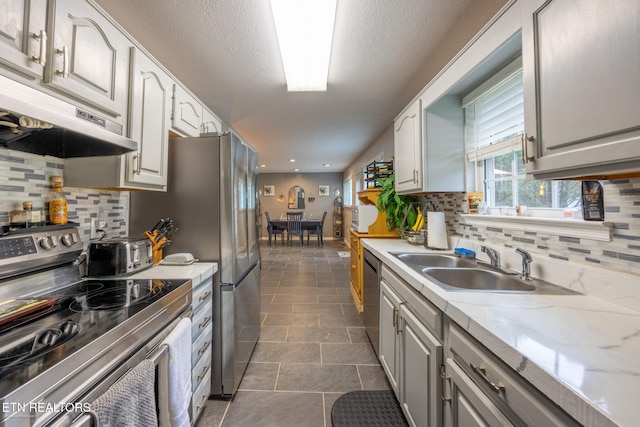
<svg viewBox="0 0 640 427">
<path fill-rule="evenodd" d="M 640 2 L 529 0 L 523 9 L 527 174 L 640 171 Z"/>
</svg>

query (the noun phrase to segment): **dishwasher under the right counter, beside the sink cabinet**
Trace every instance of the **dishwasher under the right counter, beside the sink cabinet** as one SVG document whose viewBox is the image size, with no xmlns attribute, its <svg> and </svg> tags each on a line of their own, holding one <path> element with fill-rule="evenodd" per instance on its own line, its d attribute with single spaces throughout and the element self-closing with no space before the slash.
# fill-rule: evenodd
<svg viewBox="0 0 640 427">
<path fill-rule="evenodd" d="M 380 343 L 380 274 L 382 263 L 366 248 L 364 249 L 363 292 L 364 326 L 378 356 Z"/>
</svg>

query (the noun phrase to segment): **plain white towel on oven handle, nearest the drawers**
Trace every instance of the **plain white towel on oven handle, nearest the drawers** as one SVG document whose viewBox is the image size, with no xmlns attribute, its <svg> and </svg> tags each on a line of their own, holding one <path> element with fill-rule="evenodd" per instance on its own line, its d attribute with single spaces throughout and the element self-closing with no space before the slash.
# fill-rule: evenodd
<svg viewBox="0 0 640 427">
<path fill-rule="evenodd" d="M 169 416 L 172 427 L 189 427 L 191 404 L 191 319 L 180 320 L 165 338 L 169 348 Z"/>
</svg>

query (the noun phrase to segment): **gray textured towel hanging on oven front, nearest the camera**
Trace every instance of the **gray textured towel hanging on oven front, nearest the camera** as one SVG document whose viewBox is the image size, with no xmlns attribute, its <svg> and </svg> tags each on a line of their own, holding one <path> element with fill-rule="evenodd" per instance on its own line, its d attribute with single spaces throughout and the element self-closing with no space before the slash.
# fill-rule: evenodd
<svg viewBox="0 0 640 427">
<path fill-rule="evenodd" d="M 91 403 L 100 427 L 158 425 L 155 396 L 156 365 L 143 360 Z"/>
</svg>

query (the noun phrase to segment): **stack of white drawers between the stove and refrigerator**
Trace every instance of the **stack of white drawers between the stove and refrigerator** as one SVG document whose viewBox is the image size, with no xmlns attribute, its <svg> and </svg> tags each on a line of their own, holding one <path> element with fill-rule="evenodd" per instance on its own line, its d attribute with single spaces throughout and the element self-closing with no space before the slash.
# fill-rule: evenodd
<svg viewBox="0 0 640 427">
<path fill-rule="evenodd" d="M 198 419 L 211 394 L 211 355 L 213 343 L 213 277 L 193 284 L 191 323 L 191 419 Z"/>
</svg>

